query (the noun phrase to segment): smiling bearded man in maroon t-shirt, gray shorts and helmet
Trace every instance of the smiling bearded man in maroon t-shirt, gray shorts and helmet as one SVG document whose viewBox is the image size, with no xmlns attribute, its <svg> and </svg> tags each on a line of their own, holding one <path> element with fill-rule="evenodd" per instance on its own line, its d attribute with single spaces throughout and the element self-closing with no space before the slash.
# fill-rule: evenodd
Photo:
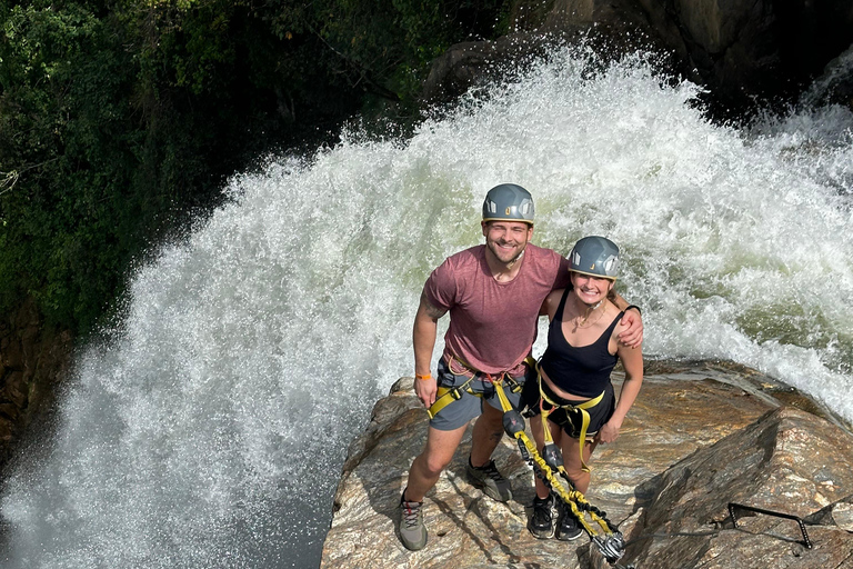
<svg viewBox="0 0 853 569">
<path fill-rule="evenodd" d="M 414 390 L 431 408 L 431 419 L 426 445 L 412 462 L 400 499 L 400 540 L 413 551 L 426 545 L 423 497 L 475 417 L 466 477 L 495 500 L 512 498 L 509 481 L 491 460 L 503 437 L 503 411 L 492 381 L 504 381 L 510 402 L 518 407 L 520 390 L 511 387 L 523 385 L 532 371 L 525 359 L 536 337 L 542 302 L 552 290 L 571 286 L 568 260 L 530 243 L 533 199 L 521 186 L 503 183 L 489 190 L 481 227 L 485 244 L 449 257 L 430 274 L 414 317 Z M 624 300 L 618 302 L 625 308 Z M 438 321 L 446 312 L 450 326 L 436 381 L 430 361 Z M 629 312 L 623 326 L 620 341 L 639 346 L 639 313 Z M 446 389 L 439 395 L 439 386 L 460 388 L 461 397 L 451 397 Z"/>
</svg>

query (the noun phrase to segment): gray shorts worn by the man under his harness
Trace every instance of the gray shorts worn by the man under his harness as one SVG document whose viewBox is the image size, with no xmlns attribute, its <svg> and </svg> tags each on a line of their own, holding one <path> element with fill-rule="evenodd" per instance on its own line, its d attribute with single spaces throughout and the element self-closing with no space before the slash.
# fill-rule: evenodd
<svg viewBox="0 0 853 569">
<path fill-rule="evenodd" d="M 522 386 L 524 385 L 525 379 L 531 377 L 531 373 L 535 380 L 536 372 L 530 367 L 528 368 L 528 372 L 524 376 L 513 376 L 513 379 L 520 386 Z M 439 361 L 439 375 L 435 379 L 439 387 L 456 387 L 468 381 L 468 377 L 452 373 L 448 368 L 444 358 Z M 471 419 L 482 415 L 484 402 L 489 403 L 495 409 L 501 409 L 501 400 L 498 398 L 498 392 L 494 390 L 494 386 L 491 381 L 483 381 L 479 378 L 475 378 L 468 385 L 468 387 L 471 388 L 475 393 L 482 393 L 483 397 L 478 397 L 463 391 L 460 399 L 452 401 L 444 409 L 439 411 L 435 417 L 430 419 L 430 427 L 440 431 L 452 431 L 454 429 L 459 429 L 463 425 L 466 425 Z M 521 390 L 513 393 L 510 389 L 510 386 L 504 383 L 503 391 L 506 393 L 506 399 L 510 400 L 512 407 L 518 409 L 519 399 L 521 398 Z"/>
</svg>

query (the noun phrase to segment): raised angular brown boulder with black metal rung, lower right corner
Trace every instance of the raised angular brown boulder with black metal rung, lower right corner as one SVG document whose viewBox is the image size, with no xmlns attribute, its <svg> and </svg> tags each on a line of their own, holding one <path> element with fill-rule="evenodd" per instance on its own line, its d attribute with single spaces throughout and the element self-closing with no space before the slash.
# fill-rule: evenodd
<svg viewBox="0 0 853 569">
<path fill-rule="evenodd" d="M 629 556 L 643 568 L 851 567 L 853 538 L 843 527 L 809 527 L 809 549 L 796 521 L 744 510 L 735 530 L 726 506 L 800 518 L 831 503 L 831 511 L 842 510 L 833 502 L 853 489 L 852 467 L 850 435 L 804 411 L 777 409 L 668 469 L 628 535 Z"/>
</svg>

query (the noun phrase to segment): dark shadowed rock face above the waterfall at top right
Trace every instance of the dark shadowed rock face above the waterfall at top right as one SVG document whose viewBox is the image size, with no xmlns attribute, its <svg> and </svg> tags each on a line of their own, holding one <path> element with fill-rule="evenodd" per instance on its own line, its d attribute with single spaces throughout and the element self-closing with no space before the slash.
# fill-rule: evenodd
<svg viewBox="0 0 853 569">
<path fill-rule="evenodd" d="M 670 71 L 709 88 L 721 106 L 749 106 L 799 93 L 853 43 L 847 0 L 521 0 L 511 21 L 506 38 L 454 46 L 439 58 L 424 97 L 455 97 L 500 63 L 518 63 L 520 51 L 583 36 L 612 56 L 640 46 L 668 52 Z"/>
</svg>

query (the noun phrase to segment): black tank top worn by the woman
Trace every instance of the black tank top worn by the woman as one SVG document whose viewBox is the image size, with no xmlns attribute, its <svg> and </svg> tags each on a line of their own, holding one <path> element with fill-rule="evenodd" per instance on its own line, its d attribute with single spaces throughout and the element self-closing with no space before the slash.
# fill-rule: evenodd
<svg viewBox="0 0 853 569">
<path fill-rule="evenodd" d="M 565 289 L 554 319 L 548 327 L 548 349 L 540 361 L 548 378 L 563 391 L 581 396 L 598 397 L 610 381 L 610 372 L 619 358 L 608 350 L 613 329 L 622 319 L 620 312 L 606 330 L 589 346 L 575 348 L 563 336 L 563 308 L 571 289 Z"/>
</svg>

